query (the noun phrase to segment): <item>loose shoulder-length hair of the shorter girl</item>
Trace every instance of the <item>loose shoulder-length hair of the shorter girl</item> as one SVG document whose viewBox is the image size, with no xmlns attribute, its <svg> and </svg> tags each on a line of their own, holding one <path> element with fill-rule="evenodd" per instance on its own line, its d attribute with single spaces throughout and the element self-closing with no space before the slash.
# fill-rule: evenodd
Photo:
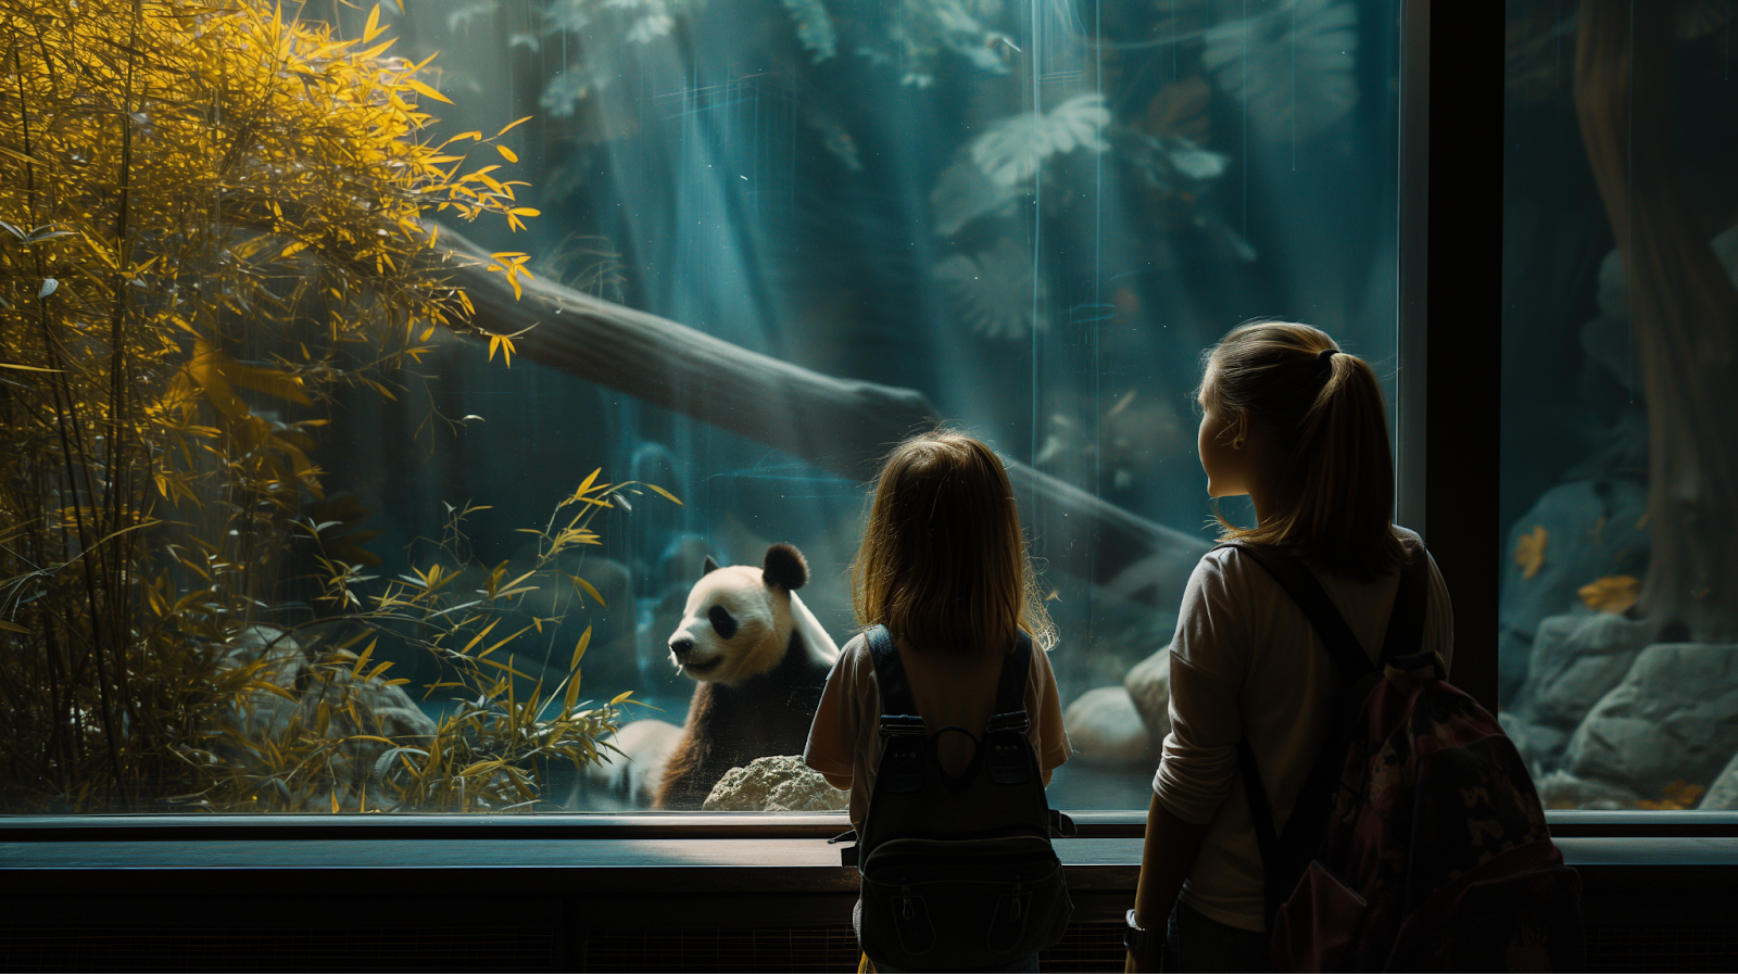
<svg viewBox="0 0 1738 974">
<path fill-rule="evenodd" d="M 1008 651 L 1017 628 L 1039 649 L 1055 642 L 1008 472 L 963 432 L 921 432 L 888 453 L 852 589 L 859 627 L 925 651 Z"/>
</svg>

